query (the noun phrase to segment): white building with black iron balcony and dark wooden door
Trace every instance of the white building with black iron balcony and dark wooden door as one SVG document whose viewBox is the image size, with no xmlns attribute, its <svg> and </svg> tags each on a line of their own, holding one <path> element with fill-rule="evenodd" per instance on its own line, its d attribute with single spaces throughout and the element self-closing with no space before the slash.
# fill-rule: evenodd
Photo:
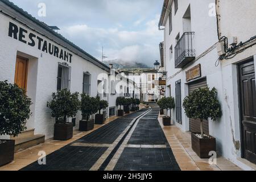
<svg viewBox="0 0 256 182">
<path fill-rule="evenodd" d="M 159 22 L 166 95 L 176 99 L 172 120 L 183 131 L 200 131 L 200 122 L 185 116 L 182 101 L 196 88 L 215 87 L 223 116 L 204 121 L 204 132 L 216 138 L 219 154 L 243 169 L 256 163 L 255 16 L 253 0 L 165 0 Z M 227 40 L 237 40 L 237 47 L 228 50 Z"/>
</svg>

